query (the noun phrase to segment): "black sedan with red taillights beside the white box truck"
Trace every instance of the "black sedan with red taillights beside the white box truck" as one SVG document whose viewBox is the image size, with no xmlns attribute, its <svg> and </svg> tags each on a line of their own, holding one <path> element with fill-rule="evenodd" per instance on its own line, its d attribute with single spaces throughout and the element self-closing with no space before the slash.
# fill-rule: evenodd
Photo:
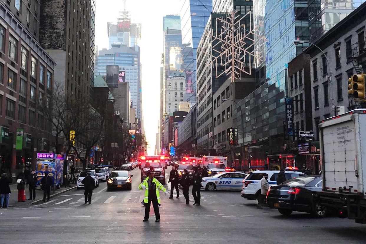
<svg viewBox="0 0 366 244">
<path fill-rule="evenodd" d="M 285 216 L 292 211 L 311 213 L 315 218 L 323 218 L 328 213 L 326 207 L 316 202 L 314 195 L 321 191 L 321 176 L 299 176 L 281 185 L 272 185 L 267 193 L 267 204 Z"/>
</svg>

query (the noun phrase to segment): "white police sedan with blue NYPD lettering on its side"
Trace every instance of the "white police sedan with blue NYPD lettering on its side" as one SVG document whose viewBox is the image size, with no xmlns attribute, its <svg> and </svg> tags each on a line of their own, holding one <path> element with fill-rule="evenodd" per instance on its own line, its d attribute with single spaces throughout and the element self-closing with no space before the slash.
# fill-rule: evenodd
<svg viewBox="0 0 366 244">
<path fill-rule="evenodd" d="M 240 190 L 243 180 L 247 176 L 242 172 L 223 172 L 212 177 L 203 177 L 201 189 L 213 191 L 215 189 Z"/>
</svg>

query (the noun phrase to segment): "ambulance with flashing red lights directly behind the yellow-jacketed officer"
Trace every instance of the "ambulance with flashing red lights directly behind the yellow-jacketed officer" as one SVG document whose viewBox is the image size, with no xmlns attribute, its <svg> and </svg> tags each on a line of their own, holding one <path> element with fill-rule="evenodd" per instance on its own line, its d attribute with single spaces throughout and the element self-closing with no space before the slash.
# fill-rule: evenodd
<svg viewBox="0 0 366 244">
<path fill-rule="evenodd" d="M 143 155 L 139 160 L 139 169 L 141 169 L 141 181 L 143 181 L 148 175 L 147 172 L 150 168 L 154 168 L 154 177 L 162 184 L 165 184 L 165 169 L 168 168 L 165 164 L 164 155 Z"/>
</svg>

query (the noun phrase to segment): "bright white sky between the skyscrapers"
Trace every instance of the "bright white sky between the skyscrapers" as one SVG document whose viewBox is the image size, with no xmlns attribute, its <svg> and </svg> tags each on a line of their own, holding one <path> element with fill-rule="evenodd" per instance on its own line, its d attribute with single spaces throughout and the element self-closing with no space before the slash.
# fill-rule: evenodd
<svg viewBox="0 0 366 244">
<path fill-rule="evenodd" d="M 95 43 L 108 48 L 107 22 L 116 22 L 123 0 L 97 0 Z M 163 52 L 163 16 L 179 14 L 179 0 L 126 0 L 132 22 L 142 24 L 142 110 L 147 152 L 154 154 L 160 109 L 160 66 Z"/>
</svg>

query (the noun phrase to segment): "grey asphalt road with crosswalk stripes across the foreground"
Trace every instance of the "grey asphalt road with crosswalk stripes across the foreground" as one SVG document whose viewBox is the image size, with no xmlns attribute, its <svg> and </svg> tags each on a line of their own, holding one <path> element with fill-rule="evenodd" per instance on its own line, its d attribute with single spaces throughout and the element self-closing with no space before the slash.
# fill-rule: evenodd
<svg viewBox="0 0 366 244">
<path fill-rule="evenodd" d="M 0 209 L 0 243 L 365 243 L 365 225 L 305 213 L 283 217 L 257 209 L 239 191 L 202 191 L 201 206 L 161 194 L 160 222 L 152 207 L 150 221 L 142 222 L 140 172 L 130 173 L 132 191 L 107 192 L 100 183 L 90 205 L 75 189 L 45 204 Z"/>
</svg>

